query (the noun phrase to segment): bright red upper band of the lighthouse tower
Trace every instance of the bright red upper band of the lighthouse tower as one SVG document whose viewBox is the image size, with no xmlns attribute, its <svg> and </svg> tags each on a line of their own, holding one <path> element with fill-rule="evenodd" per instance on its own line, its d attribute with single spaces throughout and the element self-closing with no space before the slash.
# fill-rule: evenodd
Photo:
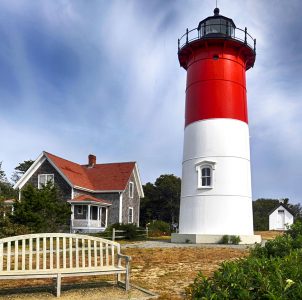
<svg viewBox="0 0 302 300">
<path fill-rule="evenodd" d="M 187 64 L 185 125 L 230 118 L 248 123 L 245 63 L 223 47 L 199 50 Z"/>
</svg>

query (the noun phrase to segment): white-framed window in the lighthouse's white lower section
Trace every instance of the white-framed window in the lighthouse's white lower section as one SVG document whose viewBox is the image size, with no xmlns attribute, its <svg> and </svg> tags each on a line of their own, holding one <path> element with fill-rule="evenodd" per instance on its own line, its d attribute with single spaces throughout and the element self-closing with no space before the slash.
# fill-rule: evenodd
<svg viewBox="0 0 302 300">
<path fill-rule="evenodd" d="M 198 189 L 213 188 L 215 164 L 213 161 L 202 161 L 196 165 Z"/>
</svg>

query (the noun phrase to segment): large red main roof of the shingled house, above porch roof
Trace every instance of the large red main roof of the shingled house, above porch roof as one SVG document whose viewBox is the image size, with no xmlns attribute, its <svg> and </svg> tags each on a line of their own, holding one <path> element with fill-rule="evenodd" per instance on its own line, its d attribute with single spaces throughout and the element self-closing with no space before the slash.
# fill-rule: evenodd
<svg viewBox="0 0 302 300">
<path fill-rule="evenodd" d="M 51 153 L 44 152 L 73 186 L 94 191 L 123 191 L 135 162 L 79 165 Z"/>
</svg>

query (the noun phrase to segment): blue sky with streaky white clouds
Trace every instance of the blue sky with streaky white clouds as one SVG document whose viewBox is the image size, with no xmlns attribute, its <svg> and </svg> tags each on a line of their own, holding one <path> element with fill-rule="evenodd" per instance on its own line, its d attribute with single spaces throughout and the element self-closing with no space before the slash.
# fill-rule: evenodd
<svg viewBox="0 0 302 300">
<path fill-rule="evenodd" d="M 302 199 L 302 4 L 219 0 L 257 38 L 247 72 L 253 198 Z M 186 72 L 177 38 L 214 0 L 2 0 L 0 161 L 43 150 L 135 160 L 143 182 L 181 175 Z"/>
</svg>

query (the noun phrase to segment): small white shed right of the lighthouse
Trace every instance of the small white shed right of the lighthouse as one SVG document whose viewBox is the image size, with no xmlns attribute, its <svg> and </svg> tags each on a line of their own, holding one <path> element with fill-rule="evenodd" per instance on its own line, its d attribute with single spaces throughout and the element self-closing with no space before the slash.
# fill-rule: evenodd
<svg viewBox="0 0 302 300">
<path fill-rule="evenodd" d="M 269 214 L 269 230 L 287 230 L 294 223 L 294 216 L 284 204 L 280 203 Z"/>
</svg>

